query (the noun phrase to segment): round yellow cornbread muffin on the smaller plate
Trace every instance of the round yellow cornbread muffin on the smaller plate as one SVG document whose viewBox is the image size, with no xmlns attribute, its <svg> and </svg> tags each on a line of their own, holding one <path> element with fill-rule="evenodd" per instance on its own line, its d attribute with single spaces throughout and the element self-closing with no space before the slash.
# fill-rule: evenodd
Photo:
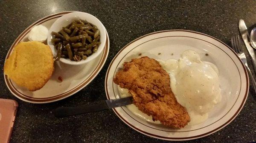
<svg viewBox="0 0 256 143">
<path fill-rule="evenodd" d="M 29 91 L 41 89 L 54 70 L 52 51 L 41 42 L 20 42 L 4 64 L 4 74 Z"/>
</svg>

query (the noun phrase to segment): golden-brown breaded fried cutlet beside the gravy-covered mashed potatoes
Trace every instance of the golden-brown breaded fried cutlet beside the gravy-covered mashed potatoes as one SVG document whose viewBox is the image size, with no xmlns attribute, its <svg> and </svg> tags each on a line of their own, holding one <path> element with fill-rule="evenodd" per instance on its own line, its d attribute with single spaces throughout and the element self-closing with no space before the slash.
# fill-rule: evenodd
<svg viewBox="0 0 256 143">
<path fill-rule="evenodd" d="M 183 128 L 190 121 L 188 112 L 172 93 L 169 74 L 155 59 L 144 56 L 125 62 L 113 81 L 128 89 L 134 105 L 152 115 L 154 121 L 172 128 Z"/>
</svg>

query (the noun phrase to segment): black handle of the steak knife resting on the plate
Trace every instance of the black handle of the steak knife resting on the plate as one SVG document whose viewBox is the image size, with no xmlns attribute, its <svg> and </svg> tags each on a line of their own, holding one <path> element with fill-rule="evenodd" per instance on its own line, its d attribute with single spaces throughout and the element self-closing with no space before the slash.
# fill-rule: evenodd
<svg viewBox="0 0 256 143">
<path fill-rule="evenodd" d="M 99 104 L 87 105 L 82 107 L 58 107 L 53 111 L 55 117 L 62 118 L 83 113 L 96 112 L 108 109 L 105 100 L 99 101 Z"/>
</svg>

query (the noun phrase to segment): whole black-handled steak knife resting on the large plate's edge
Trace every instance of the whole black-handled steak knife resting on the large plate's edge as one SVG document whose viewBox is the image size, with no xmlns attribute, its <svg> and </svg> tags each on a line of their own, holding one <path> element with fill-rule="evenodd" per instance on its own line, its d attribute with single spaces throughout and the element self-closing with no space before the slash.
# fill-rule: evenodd
<svg viewBox="0 0 256 143">
<path fill-rule="evenodd" d="M 119 99 L 110 99 L 99 101 L 98 104 L 86 105 L 82 107 L 58 107 L 53 111 L 55 117 L 62 118 L 72 115 L 79 115 L 89 112 L 102 111 L 105 109 L 111 109 L 115 107 L 125 106 L 132 104 L 132 96 Z"/>
</svg>

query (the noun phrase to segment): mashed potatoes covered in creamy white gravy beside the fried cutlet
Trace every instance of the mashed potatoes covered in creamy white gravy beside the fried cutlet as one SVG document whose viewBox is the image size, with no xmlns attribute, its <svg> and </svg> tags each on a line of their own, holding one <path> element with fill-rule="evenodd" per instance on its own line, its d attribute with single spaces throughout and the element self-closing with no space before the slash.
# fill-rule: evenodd
<svg viewBox="0 0 256 143">
<path fill-rule="evenodd" d="M 198 53 L 186 50 L 180 59 L 160 61 L 171 79 L 172 92 L 179 104 L 186 107 L 190 125 L 202 123 L 208 118 L 208 112 L 221 101 L 218 68 L 203 62 Z"/>
</svg>

